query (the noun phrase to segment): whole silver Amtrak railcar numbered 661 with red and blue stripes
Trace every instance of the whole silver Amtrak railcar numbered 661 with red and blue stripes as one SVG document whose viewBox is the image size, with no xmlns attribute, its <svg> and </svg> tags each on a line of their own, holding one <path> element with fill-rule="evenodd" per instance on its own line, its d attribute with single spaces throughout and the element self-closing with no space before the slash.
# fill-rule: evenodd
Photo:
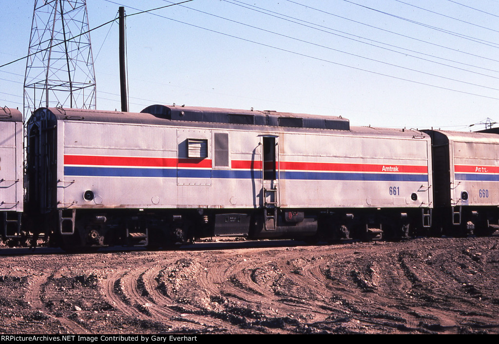
<svg viewBox="0 0 499 344">
<path fill-rule="evenodd" d="M 54 245 L 404 238 L 431 227 L 431 141 L 416 130 L 153 105 L 41 108 L 27 133 L 28 204 Z"/>
</svg>

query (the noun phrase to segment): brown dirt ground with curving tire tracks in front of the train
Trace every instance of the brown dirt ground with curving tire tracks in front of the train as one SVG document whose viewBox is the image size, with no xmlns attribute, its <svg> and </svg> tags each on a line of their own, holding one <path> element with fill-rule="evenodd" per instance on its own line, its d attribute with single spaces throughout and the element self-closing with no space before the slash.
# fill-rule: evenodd
<svg viewBox="0 0 499 344">
<path fill-rule="evenodd" d="M 499 238 L 197 245 L 7 250 L 0 333 L 499 333 Z"/>
</svg>

